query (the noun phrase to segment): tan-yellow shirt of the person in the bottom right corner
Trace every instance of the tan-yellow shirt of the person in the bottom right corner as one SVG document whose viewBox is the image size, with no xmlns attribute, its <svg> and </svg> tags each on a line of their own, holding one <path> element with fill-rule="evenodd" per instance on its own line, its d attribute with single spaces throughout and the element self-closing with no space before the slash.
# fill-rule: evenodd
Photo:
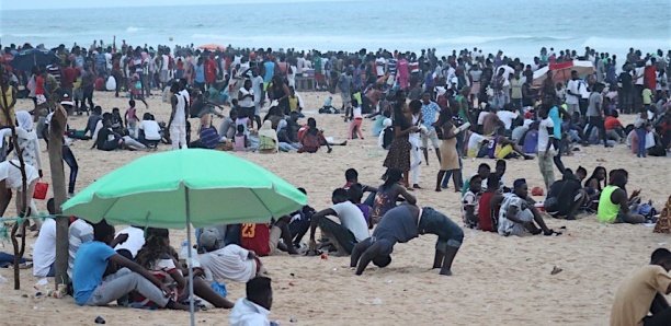
<svg viewBox="0 0 671 326">
<path fill-rule="evenodd" d="M 645 266 L 625 279 L 615 293 L 611 326 L 642 325 L 657 292 L 667 294 L 671 276 L 658 265 Z"/>
</svg>

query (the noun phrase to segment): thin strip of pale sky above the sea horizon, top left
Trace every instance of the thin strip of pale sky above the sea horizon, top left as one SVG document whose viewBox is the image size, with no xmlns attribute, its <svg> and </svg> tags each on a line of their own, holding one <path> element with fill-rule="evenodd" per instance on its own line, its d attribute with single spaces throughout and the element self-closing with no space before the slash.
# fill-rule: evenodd
<svg viewBox="0 0 671 326">
<path fill-rule="evenodd" d="M 180 5 L 180 4 L 226 4 L 250 2 L 325 2 L 344 0 L 0 0 L 0 10 L 16 9 L 55 9 L 55 8 L 100 8 L 100 7 L 148 7 L 148 5 Z"/>
</svg>

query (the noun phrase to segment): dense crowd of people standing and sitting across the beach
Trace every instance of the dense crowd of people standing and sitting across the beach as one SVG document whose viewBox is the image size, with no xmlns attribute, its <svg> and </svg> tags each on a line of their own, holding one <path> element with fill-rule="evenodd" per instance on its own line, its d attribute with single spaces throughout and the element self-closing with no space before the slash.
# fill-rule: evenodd
<svg viewBox="0 0 671 326">
<path fill-rule="evenodd" d="M 27 47 L 5 47 L 5 58 Z M 607 172 L 599 166 L 588 178 L 584 167 L 573 172 L 561 156 L 572 154 L 580 145 L 610 148 L 624 142 L 638 158 L 666 156 L 671 142 L 667 73 L 671 51 L 642 55 L 630 49 L 618 61 L 615 55 L 589 47 L 580 55 L 543 48 L 526 65 L 501 51 L 484 55 L 477 48 L 439 58 L 434 49 L 419 55 L 383 49 L 320 53 L 193 46 L 159 46 L 155 50 L 125 42 L 117 48 L 101 40 L 89 49 L 59 46 L 53 53 L 48 66 L 32 71 L 12 69 L 9 59 L 2 65 L 2 94 L 9 101 L 0 106 L 11 114 L 0 124 L 16 126 L 29 191 L 42 176 L 38 138 L 48 139 L 45 126 L 56 109 L 89 115 L 84 130 L 68 130 L 66 137 L 91 139 L 92 148 L 102 151 L 156 149 L 164 142 L 175 150 L 315 153 L 326 147 L 330 153 L 332 145 L 346 141 L 326 137 L 314 117 L 300 123 L 306 107 L 296 81 L 309 77 L 317 90 L 340 94 L 340 108 L 333 107 L 332 96 L 328 96 L 320 112 L 342 113 L 349 124 L 344 138 L 363 140 L 362 127 L 372 119 L 372 136 L 387 151 L 382 185 L 360 184 L 357 172 L 350 168 L 345 185 L 333 190 L 328 208 L 306 206 L 270 223 L 197 230 L 196 295 L 216 307 L 234 307 L 232 325 L 247 325 L 250 322 L 244 321 L 251 321 L 247 318 L 266 318 L 272 290 L 259 257 L 276 252 L 350 256 L 350 266 L 362 275 L 371 263 L 379 268 L 388 266 L 397 243 L 429 233 L 437 235 L 433 268 L 441 275 L 452 275 L 464 231 L 444 213 L 419 206 L 413 195 L 422 189 L 421 166 L 430 164 L 430 150 L 435 151 L 440 164 L 435 190 L 446 189 L 452 178 L 454 190 L 460 193 L 464 228 L 502 236 L 557 236 L 561 232 L 545 223 L 548 214 L 575 220 L 583 211 L 596 213 L 603 223 L 656 221 L 655 210 L 641 199 L 640 190 L 627 190 L 627 171 Z M 580 75 L 572 70 L 570 79 L 555 78 L 557 67 L 573 60 L 591 62 L 592 72 Z M 547 73 L 534 73 L 544 67 L 549 68 Z M 116 96 L 128 94 L 123 116 L 118 108 L 103 113 L 94 104 L 93 90 L 104 88 Z M 170 104 L 167 121 L 157 121 L 150 113 L 141 119 L 137 116 L 136 101 L 149 108 L 145 98 L 156 91 Z M 33 110 L 13 110 L 21 96 L 33 98 Z M 262 117 L 263 110 L 266 113 Z M 635 123 L 624 126 L 618 120 L 621 113 L 635 114 Z M 221 118 L 218 128 L 215 117 Z M 196 118 L 198 139 L 192 141 L 191 121 Z M 4 138 L 10 135 L 7 130 L 2 129 Z M 62 151 L 71 171 L 69 193 L 73 194 L 77 161 L 68 141 Z M 476 174 L 464 177 L 465 158 L 496 159 L 494 171 L 482 163 Z M 507 160 L 518 158 L 537 160 L 547 193 L 543 201 L 532 198 L 543 189 L 530 191 L 525 179 L 505 183 Z M 0 163 L 0 171 L 7 171 L 3 181 L 8 188 L 18 193 L 19 168 L 15 160 Z M 555 178 L 555 168 L 559 179 Z M 2 195 L 4 210 L 11 191 Z M 23 214 L 29 213 L 30 206 L 16 201 Z M 55 222 L 47 219 L 36 228 L 39 235 L 33 255 L 34 275 L 53 276 Z M 189 284 L 180 260 L 184 257 L 170 246 L 168 231 L 136 226 L 116 235 L 114 231 L 104 221 L 89 224 L 71 219 L 69 273 L 76 302 L 104 305 L 118 300 L 133 306 L 185 308 L 184 290 Z M 308 244 L 304 245 L 308 232 Z M 653 264 L 666 268 L 667 256 L 653 254 Z M 640 277 L 652 277 L 653 272 L 658 279 L 662 275 L 668 278 L 659 268 L 648 268 Z M 247 282 L 247 299 L 235 304 L 226 299 L 224 282 L 230 280 Z M 663 283 L 659 284 L 658 290 L 663 292 Z M 645 303 L 641 306 L 649 306 Z M 630 308 L 637 323 L 648 312 L 656 316 L 669 313 L 668 304 L 646 310 L 642 315 L 639 306 L 635 312 Z"/>
</svg>

